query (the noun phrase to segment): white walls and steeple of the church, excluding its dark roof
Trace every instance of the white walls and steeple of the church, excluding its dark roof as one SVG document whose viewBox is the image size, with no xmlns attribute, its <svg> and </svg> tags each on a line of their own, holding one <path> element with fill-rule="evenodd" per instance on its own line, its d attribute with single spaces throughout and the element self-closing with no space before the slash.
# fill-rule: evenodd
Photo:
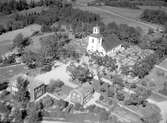
<svg viewBox="0 0 167 123">
<path fill-rule="evenodd" d="M 111 36 L 112 37 L 112 36 Z M 111 44 L 111 43 L 110 43 Z M 100 34 L 99 26 L 93 27 L 93 33 L 88 36 L 87 52 L 89 54 L 97 53 L 98 55 L 112 55 L 116 52 L 123 50 L 121 43 L 115 42 L 112 46 L 105 46 L 103 36 Z"/>
</svg>

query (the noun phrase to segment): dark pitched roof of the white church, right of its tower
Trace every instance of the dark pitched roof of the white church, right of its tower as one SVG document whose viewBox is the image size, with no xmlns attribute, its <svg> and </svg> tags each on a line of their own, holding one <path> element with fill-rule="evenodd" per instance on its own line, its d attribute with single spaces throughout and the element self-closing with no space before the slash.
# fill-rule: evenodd
<svg viewBox="0 0 167 123">
<path fill-rule="evenodd" d="M 120 44 L 122 44 L 122 41 L 115 34 L 111 34 L 110 36 L 104 38 L 102 42 L 102 46 L 107 52 Z"/>
</svg>

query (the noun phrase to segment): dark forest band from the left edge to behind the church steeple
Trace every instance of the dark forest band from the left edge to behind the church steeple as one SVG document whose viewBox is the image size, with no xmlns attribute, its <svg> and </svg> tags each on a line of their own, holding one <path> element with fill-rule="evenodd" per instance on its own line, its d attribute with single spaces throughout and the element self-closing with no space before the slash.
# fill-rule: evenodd
<svg viewBox="0 0 167 123">
<path fill-rule="evenodd" d="M 42 13 L 31 13 L 28 15 L 14 14 L 12 21 L 7 23 L 7 26 L 4 27 L 0 25 L 0 34 L 7 31 L 16 30 L 23 28 L 30 24 L 40 24 L 48 28 L 56 23 L 65 23 L 70 24 L 73 27 L 73 30 L 76 30 L 77 27 L 84 27 L 84 25 L 97 24 L 100 23 L 100 16 L 97 14 L 90 13 L 88 11 L 81 11 L 79 9 L 73 9 L 71 4 L 55 4 L 50 6 L 47 11 Z M 78 30 L 76 30 L 78 31 Z"/>
</svg>

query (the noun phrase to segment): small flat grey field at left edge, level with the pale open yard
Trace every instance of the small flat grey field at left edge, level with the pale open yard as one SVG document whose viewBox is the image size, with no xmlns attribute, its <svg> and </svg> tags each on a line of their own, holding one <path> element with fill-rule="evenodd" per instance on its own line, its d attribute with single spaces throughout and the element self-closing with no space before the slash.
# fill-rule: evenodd
<svg viewBox="0 0 167 123">
<path fill-rule="evenodd" d="M 26 72 L 25 65 L 18 64 L 9 67 L 0 67 L 0 82 L 10 79 L 14 75 L 25 72 Z"/>
</svg>

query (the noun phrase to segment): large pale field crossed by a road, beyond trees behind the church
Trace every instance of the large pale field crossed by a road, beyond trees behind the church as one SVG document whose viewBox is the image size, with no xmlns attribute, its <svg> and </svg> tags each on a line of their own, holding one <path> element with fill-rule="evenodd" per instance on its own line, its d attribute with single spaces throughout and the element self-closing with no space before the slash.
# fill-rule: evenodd
<svg viewBox="0 0 167 123">
<path fill-rule="evenodd" d="M 144 23 L 139 20 L 139 16 L 143 10 L 134 10 L 127 8 L 109 7 L 109 6 L 76 6 L 81 10 L 90 11 L 99 14 L 105 24 L 116 22 L 117 24 L 128 24 L 133 27 L 140 27 L 144 32 L 149 28 L 156 29 L 159 27 L 155 24 Z"/>
</svg>

